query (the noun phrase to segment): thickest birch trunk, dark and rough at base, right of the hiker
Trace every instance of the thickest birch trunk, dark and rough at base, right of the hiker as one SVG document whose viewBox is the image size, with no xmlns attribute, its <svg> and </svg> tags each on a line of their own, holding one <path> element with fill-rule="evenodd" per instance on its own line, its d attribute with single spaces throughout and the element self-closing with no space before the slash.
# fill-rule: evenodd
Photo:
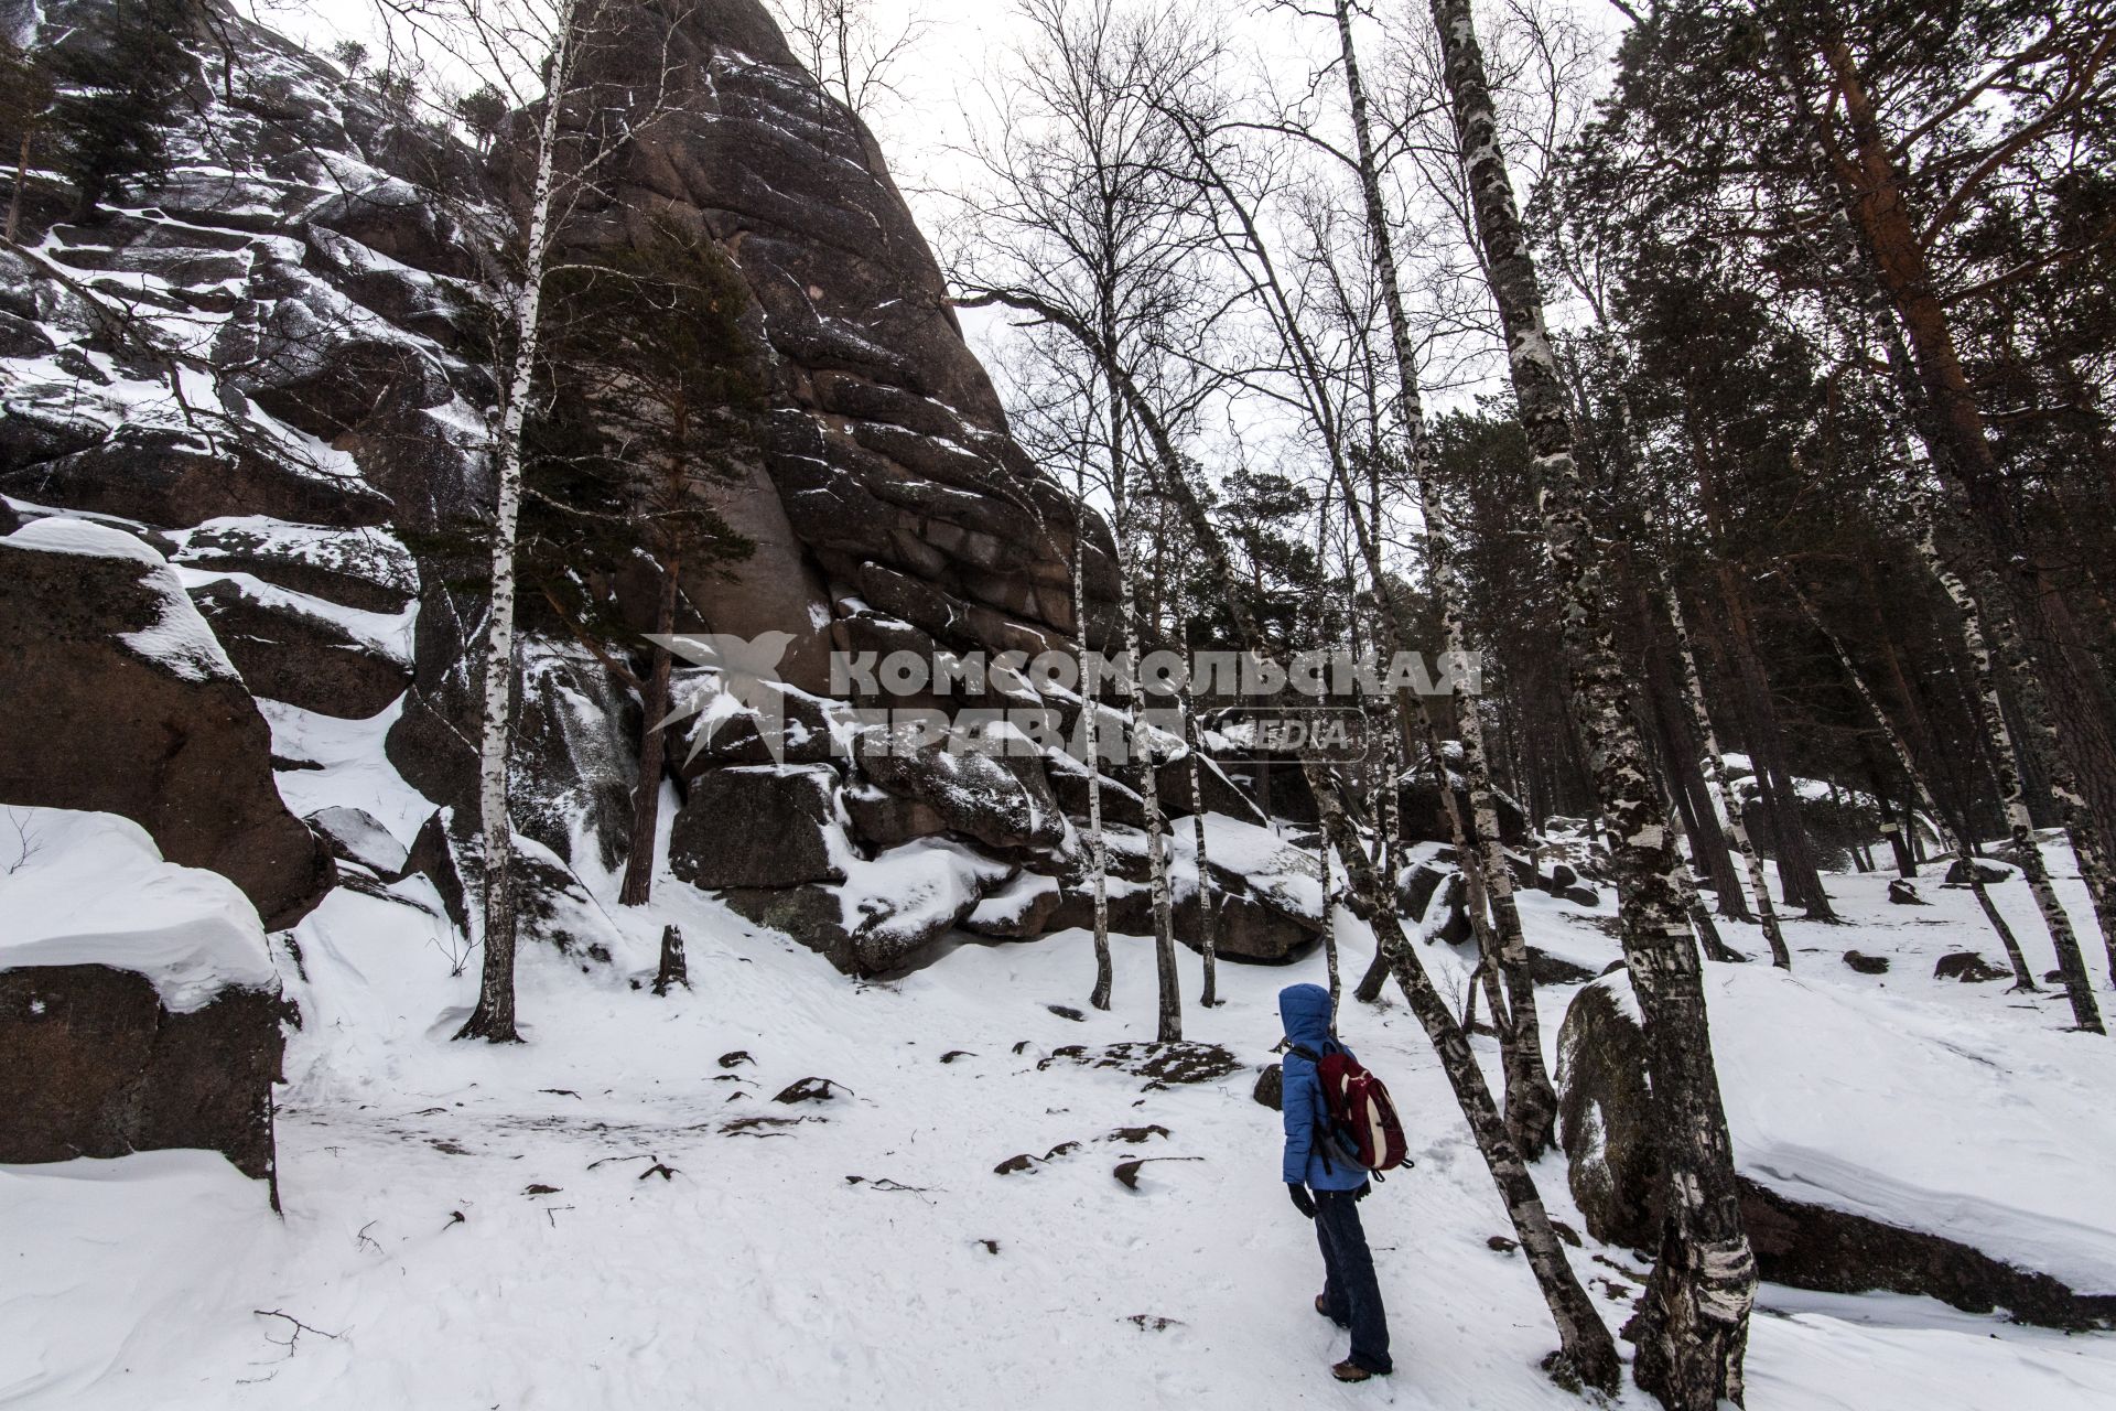
<svg viewBox="0 0 2116 1411">
<path fill-rule="evenodd" d="M 1756 1261 L 1741 1225 L 1733 1147 L 1712 1066 L 1701 960 L 1689 922 L 1695 888 L 1653 787 L 1644 745 L 1623 707 L 1585 474 L 1572 453 L 1566 389 L 1498 148 L 1498 114 L 1469 0 L 1433 0 L 1433 23 L 1483 262 L 1507 330 L 1515 400 L 1540 478 L 1545 539 L 1564 599 L 1572 694 L 1595 793 L 1610 825 L 1623 950 L 1644 1013 L 1663 1218 L 1659 1263 L 1631 1324 L 1638 1335 L 1634 1375 L 1670 1411 L 1714 1411 L 1720 1400 L 1739 1405 L 1744 1398 L 1741 1360 Z"/>
</svg>

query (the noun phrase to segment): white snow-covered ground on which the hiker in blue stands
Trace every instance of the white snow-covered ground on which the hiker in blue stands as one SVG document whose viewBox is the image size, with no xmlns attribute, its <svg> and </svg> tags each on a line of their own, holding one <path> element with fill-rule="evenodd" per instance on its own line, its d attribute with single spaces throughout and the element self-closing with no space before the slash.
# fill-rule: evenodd
<svg viewBox="0 0 2116 1411">
<path fill-rule="evenodd" d="M 2116 1271 L 2116 1161 L 2091 1102 L 2116 1089 L 2116 1043 L 2059 1032 L 2055 994 L 1934 982 L 1945 950 L 1995 958 L 1966 897 L 1928 882 L 1932 908 L 1890 908 L 1883 878 L 1830 884 L 1856 924 L 1794 922 L 1794 975 L 1710 967 L 1746 1159 L 1807 1199 L 1991 1231 L 2059 1273 Z M 2025 888 L 1998 891 L 2046 967 Z M 1615 956 L 1589 914 L 1526 905 L 1536 943 Z M 1344 1018 L 1418 1161 L 1363 1206 L 1399 1371 L 1339 1388 L 1342 1335 L 1308 1307 L 1320 1261 L 1253 1070 L 1145 1089 L 1041 1066 L 1062 1045 L 1151 1039 L 1149 943 L 1117 943 L 1115 1011 L 1075 1022 L 1050 1005 L 1086 1009 L 1077 931 L 861 984 L 667 878 L 652 910 L 609 912 L 628 954 L 582 973 L 525 952 L 531 1043 L 493 1049 L 451 1043 L 474 975 L 455 973 L 442 924 L 332 895 L 294 933 L 300 967 L 277 956 L 305 1015 L 279 1108 L 286 1218 L 218 1155 L 0 1168 L 0 1403 L 1576 1405 L 1536 1371 L 1547 1316 L 1521 1259 L 1485 1244 L 1507 1221 L 1401 1005 Z M 694 990 L 654 998 L 631 975 L 664 920 L 683 924 Z M 1346 929 L 1356 973 L 1367 941 Z M 1856 975 L 1845 948 L 1894 971 Z M 1460 986 L 1452 952 L 1424 954 Z M 1181 967 L 1193 998 L 1196 956 Z M 1227 1003 L 1191 1005 L 1187 1032 L 1270 1062 L 1276 990 L 1320 977 L 1320 956 L 1223 967 Z M 1568 998 L 1545 994 L 1549 1037 Z M 736 1051 L 749 1062 L 724 1060 Z M 842 1092 L 772 1100 L 804 1077 Z M 1018 1153 L 1054 1155 L 995 1174 Z M 1176 1159 L 1132 1191 L 1113 1170 L 1134 1157 Z M 1579 1225 L 1562 1159 L 1536 1174 Z M 1572 1259 L 1619 1326 L 1631 1257 L 1589 1242 Z M 2108 1407 L 2116 1337 L 1765 1288 L 1750 1379 L 1758 1409 Z"/>
</svg>

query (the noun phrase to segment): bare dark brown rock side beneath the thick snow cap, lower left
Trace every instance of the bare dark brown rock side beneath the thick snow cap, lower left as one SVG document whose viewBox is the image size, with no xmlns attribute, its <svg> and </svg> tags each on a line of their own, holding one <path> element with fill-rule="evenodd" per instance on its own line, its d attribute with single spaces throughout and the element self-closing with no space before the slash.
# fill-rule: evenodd
<svg viewBox="0 0 2116 1411">
<path fill-rule="evenodd" d="M 258 990 L 169 1013 L 102 965 L 0 971 L 0 1161 L 203 1147 L 269 1178 L 284 1013 Z"/>
</svg>

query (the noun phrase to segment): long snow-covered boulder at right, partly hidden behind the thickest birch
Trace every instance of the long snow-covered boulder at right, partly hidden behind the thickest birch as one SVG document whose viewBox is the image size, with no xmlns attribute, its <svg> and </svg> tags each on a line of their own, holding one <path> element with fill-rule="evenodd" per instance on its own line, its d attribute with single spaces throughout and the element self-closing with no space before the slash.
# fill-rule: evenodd
<svg viewBox="0 0 2116 1411">
<path fill-rule="evenodd" d="M 1909 1011 L 1896 1026 L 1752 969 L 1763 967 L 1712 967 L 1708 979 L 1741 1216 L 1765 1280 L 1928 1295 L 2065 1328 L 2116 1322 L 2099 1094 L 2057 1083 L 2057 1064 L 2019 1051 L 2044 1034 L 2006 1034 L 2004 1058 L 1976 1053 L 1966 1034 L 1923 1032 Z M 1788 1045 L 1794 1032 L 1801 1043 Z M 1657 1248 L 1646 1041 L 1623 973 L 1572 998 L 1555 1081 L 1589 1233 Z M 1832 1100 L 1818 1102 L 1822 1092 Z M 2082 1098 L 2093 1117 L 2082 1108 L 2050 1128 L 2050 1104 Z M 2074 1149 L 2050 1151 L 2050 1130 Z"/>
</svg>

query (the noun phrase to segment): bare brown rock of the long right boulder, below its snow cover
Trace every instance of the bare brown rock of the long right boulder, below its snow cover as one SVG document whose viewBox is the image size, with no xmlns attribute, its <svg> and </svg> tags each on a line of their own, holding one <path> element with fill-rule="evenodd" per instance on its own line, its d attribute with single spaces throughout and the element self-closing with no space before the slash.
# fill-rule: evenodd
<svg viewBox="0 0 2116 1411">
<path fill-rule="evenodd" d="M 1557 1030 L 1557 1138 L 1572 1199 L 1595 1240 L 1659 1248 L 1661 1155 L 1653 1136 L 1646 1037 L 1623 975 L 1583 988 Z M 1860 1214 L 1809 1206 L 1741 1174 L 1741 1218 L 1763 1278 L 1824 1293 L 1885 1288 L 2023 1322 L 2108 1326 L 2116 1297 L 2076 1295 L 2059 1280 L 1981 1250 Z"/>
</svg>

